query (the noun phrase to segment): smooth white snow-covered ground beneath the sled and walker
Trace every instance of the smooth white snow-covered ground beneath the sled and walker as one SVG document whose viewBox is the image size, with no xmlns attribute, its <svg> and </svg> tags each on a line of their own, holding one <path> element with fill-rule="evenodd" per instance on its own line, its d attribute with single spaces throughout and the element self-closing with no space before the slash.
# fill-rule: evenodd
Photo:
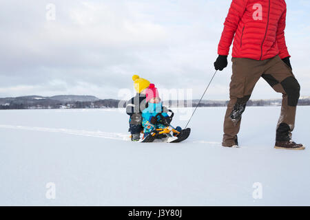
<svg viewBox="0 0 310 220">
<path fill-rule="evenodd" d="M 225 108 L 199 108 L 180 144 L 127 141 L 120 110 L 0 111 L 0 205 L 310 206 L 309 111 L 305 151 L 273 148 L 280 107 L 247 108 L 241 148 L 221 147 Z"/>
</svg>

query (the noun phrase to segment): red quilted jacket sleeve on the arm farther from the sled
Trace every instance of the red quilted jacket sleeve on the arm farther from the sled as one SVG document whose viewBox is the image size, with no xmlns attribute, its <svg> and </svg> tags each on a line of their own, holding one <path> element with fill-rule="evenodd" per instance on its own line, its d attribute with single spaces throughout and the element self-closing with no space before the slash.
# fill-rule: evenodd
<svg viewBox="0 0 310 220">
<path fill-rule="evenodd" d="M 289 52 L 287 51 L 287 44 L 285 43 L 285 20 L 287 17 L 287 9 L 283 12 L 279 22 L 278 22 L 278 30 L 277 30 L 277 43 L 279 48 L 279 56 L 280 58 L 286 58 L 289 56 Z M 290 57 L 290 56 L 289 56 Z"/>
</svg>

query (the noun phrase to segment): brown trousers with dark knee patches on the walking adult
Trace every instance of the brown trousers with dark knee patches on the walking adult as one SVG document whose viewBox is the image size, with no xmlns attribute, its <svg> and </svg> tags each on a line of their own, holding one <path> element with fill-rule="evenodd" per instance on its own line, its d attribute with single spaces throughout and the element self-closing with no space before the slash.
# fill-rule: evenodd
<svg viewBox="0 0 310 220">
<path fill-rule="evenodd" d="M 225 115 L 222 145 L 234 145 L 235 137 L 240 130 L 241 115 L 260 77 L 264 78 L 276 92 L 282 93 L 276 141 L 290 140 L 300 96 L 300 85 L 291 69 L 279 56 L 265 61 L 249 58 L 232 58 L 231 61 L 233 74 L 229 85 L 230 100 Z"/>
</svg>

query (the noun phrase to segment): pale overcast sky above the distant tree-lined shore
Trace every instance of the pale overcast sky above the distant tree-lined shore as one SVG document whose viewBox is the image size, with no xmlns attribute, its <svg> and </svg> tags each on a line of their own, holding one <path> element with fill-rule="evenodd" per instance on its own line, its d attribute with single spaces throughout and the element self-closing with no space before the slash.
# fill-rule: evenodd
<svg viewBox="0 0 310 220">
<path fill-rule="evenodd" d="M 47 19 L 56 6 L 55 20 Z M 0 97 L 60 94 L 118 98 L 132 75 L 200 98 L 231 0 L 0 0 Z M 310 1 L 287 0 L 287 45 L 310 96 Z M 50 18 L 50 17 L 48 17 Z M 205 99 L 227 100 L 231 62 Z M 252 98 L 279 98 L 260 80 Z"/>
</svg>

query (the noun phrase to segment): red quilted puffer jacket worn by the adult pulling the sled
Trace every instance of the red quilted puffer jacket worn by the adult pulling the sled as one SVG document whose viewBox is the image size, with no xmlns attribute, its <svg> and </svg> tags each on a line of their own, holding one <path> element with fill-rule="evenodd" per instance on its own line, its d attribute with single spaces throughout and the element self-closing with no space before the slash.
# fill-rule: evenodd
<svg viewBox="0 0 310 220">
<path fill-rule="evenodd" d="M 285 43 L 285 0 L 233 0 L 225 20 L 219 55 L 265 60 L 289 56 Z"/>
</svg>

